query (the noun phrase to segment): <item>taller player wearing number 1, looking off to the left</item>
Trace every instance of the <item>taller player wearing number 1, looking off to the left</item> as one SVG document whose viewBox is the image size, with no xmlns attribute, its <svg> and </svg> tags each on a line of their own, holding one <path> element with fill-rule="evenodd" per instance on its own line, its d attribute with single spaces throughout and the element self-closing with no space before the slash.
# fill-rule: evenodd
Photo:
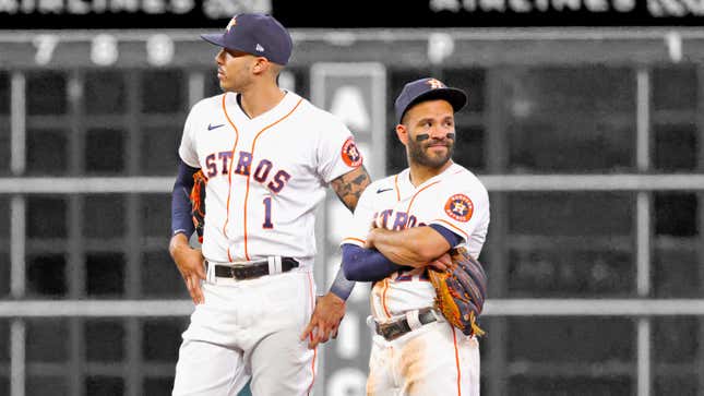
<svg viewBox="0 0 704 396">
<path fill-rule="evenodd" d="M 313 212 L 327 184 L 354 209 L 369 176 L 341 120 L 277 86 L 293 40 L 275 19 L 239 14 L 202 38 L 220 47 L 224 93 L 193 106 L 179 147 L 169 252 L 196 305 L 172 394 L 236 395 L 251 380 L 256 396 L 306 395 L 317 364 L 299 338 L 315 304 Z M 202 251 L 188 242 L 199 169 Z"/>
</svg>

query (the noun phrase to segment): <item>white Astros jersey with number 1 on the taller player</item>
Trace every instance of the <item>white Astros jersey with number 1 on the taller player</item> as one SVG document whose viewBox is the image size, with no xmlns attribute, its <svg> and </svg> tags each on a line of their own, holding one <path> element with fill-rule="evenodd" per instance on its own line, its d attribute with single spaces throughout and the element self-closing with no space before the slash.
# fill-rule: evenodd
<svg viewBox="0 0 704 396">
<path fill-rule="evenodd" d="M 215 262 L 315 254 L 315 205 L 333 179 L 359 167 L 350 131 L 333 115 L 288 92 L 250 119 L 238 95 L 225 93 L 191 109 L 181 159 L 202 168 L 203 255 Z"/>
</svg>

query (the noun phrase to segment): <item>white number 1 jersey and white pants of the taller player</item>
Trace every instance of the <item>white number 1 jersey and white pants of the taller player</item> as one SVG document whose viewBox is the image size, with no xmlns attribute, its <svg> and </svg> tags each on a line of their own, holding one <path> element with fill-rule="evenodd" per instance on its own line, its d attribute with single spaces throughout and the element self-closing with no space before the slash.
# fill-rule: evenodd
<svg viewBox="0 0 704 396">
<path fill-rule="evenodd" d="M 214 262 L 282 255 L 301 266 L 247 280 L 217 278 L 208 266 L 205 302 L 183 333 L 172 394 L 236 395 L 251 377 L 255 395 L 308 395 L 317 351 L 298 337 L 315 304 L 313 211 L 325 185 L 362 159 L 338 119 L 294 93 L 253 119 L 237 97 L 193 106 L 179 147 L 181 159 L 208 179 L 203 255 Z"/>
</svg>

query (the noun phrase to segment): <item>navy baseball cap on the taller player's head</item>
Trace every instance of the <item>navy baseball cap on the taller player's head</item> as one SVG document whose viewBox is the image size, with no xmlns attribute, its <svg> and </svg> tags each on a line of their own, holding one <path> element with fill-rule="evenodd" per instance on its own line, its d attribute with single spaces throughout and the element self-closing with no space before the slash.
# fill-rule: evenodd
<svg viewBox="0 0 704 396">
<path fill-rule="evenodd" d="M 225 33 L 201 37 L 216 46 L 234 49 L 285 65 L 291 56 L 294 40 L 286 27 L 273 16 L 260 13 L 238 14 L 227 24 Z"/>
</svg>

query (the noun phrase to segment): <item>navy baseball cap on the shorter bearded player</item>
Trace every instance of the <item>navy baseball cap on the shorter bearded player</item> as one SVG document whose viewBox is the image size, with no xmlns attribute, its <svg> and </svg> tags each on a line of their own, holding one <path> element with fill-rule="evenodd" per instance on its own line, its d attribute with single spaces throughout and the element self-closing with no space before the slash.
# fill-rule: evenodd
<svg viewBox="0 0 704 396">
<path fill-rule="evenodd" d="M 394 104 L 396 122 L 401 123 L 406 111 L 415 105 L 434 99 L 448 100 L 454 111 L 457 112 L 467 104 L 467 94 L 462 89 L 451 88 L 440 80 L 432 77 L 411 81 L 404 86 Z"/>
</svg>

